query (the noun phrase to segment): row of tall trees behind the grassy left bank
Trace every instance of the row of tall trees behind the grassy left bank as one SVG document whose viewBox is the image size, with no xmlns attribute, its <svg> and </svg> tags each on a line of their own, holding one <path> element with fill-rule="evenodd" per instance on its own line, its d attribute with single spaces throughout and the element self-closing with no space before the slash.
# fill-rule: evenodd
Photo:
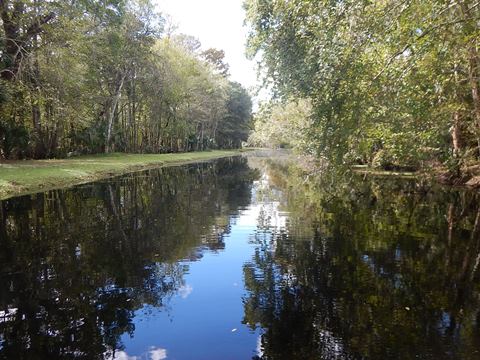
<svg viewBox="0 0 480 360">
<path fill-rule="evenodd" d="M 0 158 L 239 147 L 251 99 L 224 52 L 149 0 L 0 0 Z"/>
</svg>

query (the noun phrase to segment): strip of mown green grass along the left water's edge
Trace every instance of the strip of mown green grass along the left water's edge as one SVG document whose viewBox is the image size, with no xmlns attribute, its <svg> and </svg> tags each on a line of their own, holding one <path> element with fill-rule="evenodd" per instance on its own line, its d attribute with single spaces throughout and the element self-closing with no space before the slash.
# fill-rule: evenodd
<svg viewBox="0 0 480 360">
<path fill-rule="evenodd" d="M 239 154 L 239 150 L 180 154 L 99 154 L 61 160 L 0 163 L 0 199 L 59 189 L 132 171 Z"/>
</svg>

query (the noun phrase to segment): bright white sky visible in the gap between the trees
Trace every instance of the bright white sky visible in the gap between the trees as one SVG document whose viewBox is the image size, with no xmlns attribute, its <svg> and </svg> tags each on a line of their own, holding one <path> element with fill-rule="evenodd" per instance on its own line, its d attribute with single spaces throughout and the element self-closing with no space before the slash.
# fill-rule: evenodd
<svg viewBox="0 0 480 360">
<path fill-rule="evenodd" d="M 257 85 L 254 61 L 245 57 L 247 29 L 243 0 L 155 0 L 158 10 L 171 16 L 177 32 L 193 35 L 204 50 L 225 51 L 231 78 L 246 88 Z"/>
</svg>

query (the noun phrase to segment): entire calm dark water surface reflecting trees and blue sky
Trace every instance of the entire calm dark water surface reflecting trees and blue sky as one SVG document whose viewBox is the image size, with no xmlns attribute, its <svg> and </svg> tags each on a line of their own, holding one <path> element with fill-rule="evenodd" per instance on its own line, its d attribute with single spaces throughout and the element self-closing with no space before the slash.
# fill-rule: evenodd
<svg viewBox="0 0 480 360">
<path fill-rule="evenodd" d="M 480 197 L 254 157 L 0 202 L 0 359 L 480 359 Z"/>
</svg>

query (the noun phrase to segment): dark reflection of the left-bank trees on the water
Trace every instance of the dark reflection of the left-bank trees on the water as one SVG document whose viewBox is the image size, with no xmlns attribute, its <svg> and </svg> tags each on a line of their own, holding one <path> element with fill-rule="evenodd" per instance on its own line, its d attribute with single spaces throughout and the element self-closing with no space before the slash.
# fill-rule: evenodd
<svg viewBox="0 0 480 360">
<path fill-rule="evenodd" d="M 224 248 L 256 176 L 231 158 L 0 202 L 0 358 L 114 356 L 183 285 L 179 260 Z"/>
</svg>

